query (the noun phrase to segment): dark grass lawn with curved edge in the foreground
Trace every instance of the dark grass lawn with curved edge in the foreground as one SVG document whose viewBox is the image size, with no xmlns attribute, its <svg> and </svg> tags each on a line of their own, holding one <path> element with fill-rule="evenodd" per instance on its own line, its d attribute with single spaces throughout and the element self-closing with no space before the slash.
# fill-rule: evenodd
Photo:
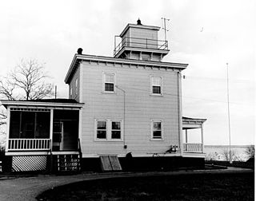
<svg viewBox="0 0 256 201">
<path fill-rule="evenodd" d="M 254 173 L 98 179 L 55 187 L 38 200 L 254 200 Z"/>
</svg>

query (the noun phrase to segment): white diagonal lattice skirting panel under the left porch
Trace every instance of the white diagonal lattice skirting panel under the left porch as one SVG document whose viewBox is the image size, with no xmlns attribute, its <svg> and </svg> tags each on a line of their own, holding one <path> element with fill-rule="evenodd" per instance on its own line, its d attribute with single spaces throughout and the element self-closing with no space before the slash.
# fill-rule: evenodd
<svg viewBox="0 0 256 201">
<path fill-rule="evenodd" d="M 13 156 L 12 171 L 46 170 L 47 156 Z"/>
</svg>

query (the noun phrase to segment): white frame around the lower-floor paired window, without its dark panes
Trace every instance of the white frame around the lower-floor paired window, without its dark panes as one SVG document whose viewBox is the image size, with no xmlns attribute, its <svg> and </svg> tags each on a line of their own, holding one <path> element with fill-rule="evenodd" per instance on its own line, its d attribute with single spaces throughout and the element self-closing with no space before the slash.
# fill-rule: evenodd
<svg viewBox="0 0 256 201">
<path fill-rule="evenodd" d="M 98 138 L 98 121 L 106 121 L 106 139 Z M 112 138 L 112 122 L 120 122 L 120 139 Z M 115 129 L 114 129 L 115 130 Z M 94 120 L 94 141 L 122 142 L 123 141 L 123 120 L 121 119 L 95 119 Z"/>
</svg>

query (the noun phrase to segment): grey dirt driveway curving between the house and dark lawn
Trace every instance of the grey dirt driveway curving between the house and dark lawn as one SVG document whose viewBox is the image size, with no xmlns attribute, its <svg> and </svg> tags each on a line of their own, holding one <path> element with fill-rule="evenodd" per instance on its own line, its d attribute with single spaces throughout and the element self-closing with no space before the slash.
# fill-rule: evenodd
<svg viewBox="0 0 256 201">
<path fill-rule="evenodd" d="M 90 173 L 79 175 L 38 175 L 34 177 L 9 178 L 0 177 L 0 200 L 36 200 L 42 191 L 67 183 L 90 179 L 106 179 L 113 177 L 141 175 L 183 175 L 183 174 L 222 174 L 226 172 L 250 172 L 253 170 L 230 167 L 226 170 L 207 171 L 168 171 L 168 172 L 136 172 L 136 173 Z"/>
</svg>

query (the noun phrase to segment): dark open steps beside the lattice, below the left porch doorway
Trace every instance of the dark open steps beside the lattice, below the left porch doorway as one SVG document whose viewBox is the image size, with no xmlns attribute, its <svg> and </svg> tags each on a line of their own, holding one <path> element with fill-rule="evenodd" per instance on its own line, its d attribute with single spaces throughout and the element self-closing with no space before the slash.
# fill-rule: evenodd
<svg viewBox="0 0 256 201">
<path fill-rule="evenodd" d="M 60 154 L 57 156 L 58 171 L 81 171 L 79 154 Z"/>
</svg>

